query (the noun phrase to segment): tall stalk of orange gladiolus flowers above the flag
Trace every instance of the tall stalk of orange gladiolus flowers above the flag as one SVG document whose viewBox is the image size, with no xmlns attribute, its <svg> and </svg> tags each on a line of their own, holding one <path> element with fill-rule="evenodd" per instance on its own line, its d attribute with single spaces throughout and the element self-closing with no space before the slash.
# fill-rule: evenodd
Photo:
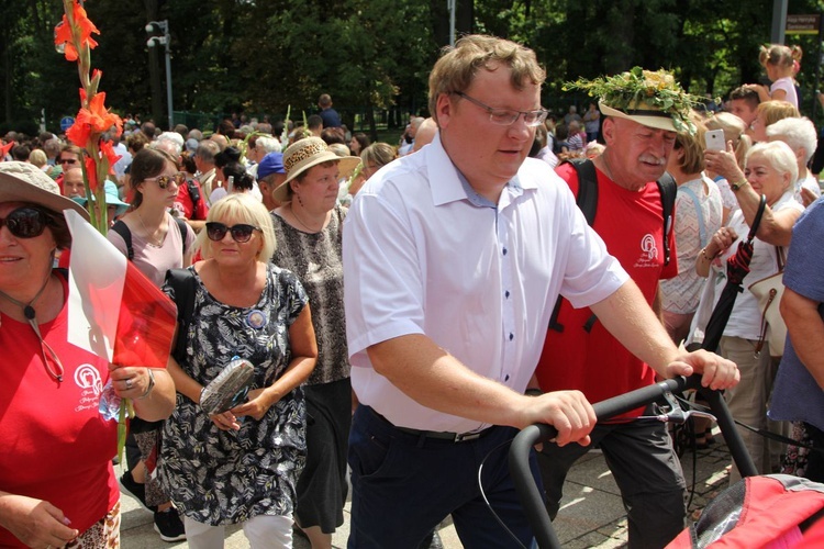
<svg viewBox="0 0 824 549">
<path fill-rule="evenodd" d="M 109 231 L 105 178 L 120 157 L 111 142 L 102 137 L 105 132 L 120 137 L 123 122 L 105 108 L 105 93 L 99 91 L 103 74 L 91 68 L 91 49 L 98 45 L 91 35 L 100 34 L 100 31 L 77 0 L 63 0 L 63 21 L 55 27 L 55 46 L 64 53 L 66 60 L 77 63 L 80 77 L 80 111 L 66 137 L 86 152 L 81 168 L 89 217 L 91 224 L 105 235 Z M 121 459 L 126 441 L 126 416 L 131 415 L 134 415 L 131 403 L 123 399 L 118 413 L 118 456 Z"/>
</svg>

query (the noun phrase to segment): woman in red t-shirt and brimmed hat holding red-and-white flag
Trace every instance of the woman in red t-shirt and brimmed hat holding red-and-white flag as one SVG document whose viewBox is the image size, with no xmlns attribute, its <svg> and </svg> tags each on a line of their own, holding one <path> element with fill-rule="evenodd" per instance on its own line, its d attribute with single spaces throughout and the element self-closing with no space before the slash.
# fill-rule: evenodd
<svg viewBox="0 0 824 549">
<path fill-rule="evenodd" d="M 30 164 L 0 163 L 0 546 L 119 547 L 112 468 L 118 424 L 98 405 L 107 382 L 138 416 L 168 417 L 165 371 L 109 365 L 68 343 L 71 243 L 64 210 L 86 211 Z"/>
</svg>

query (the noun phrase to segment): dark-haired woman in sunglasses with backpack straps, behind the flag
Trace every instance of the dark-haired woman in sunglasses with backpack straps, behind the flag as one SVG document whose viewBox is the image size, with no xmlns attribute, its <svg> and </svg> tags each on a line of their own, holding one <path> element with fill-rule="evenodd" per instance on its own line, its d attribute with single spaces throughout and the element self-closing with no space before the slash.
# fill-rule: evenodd
<svg viewBox="0 0 824 549">
<path fill-rule="evenodd" d="M 158 287 L 166 280 L 166 271 L 188 267 L 194 232 L 178 224 L 168 212 L 175 205 L 178 187 L 185 184 L 186 173 L 176 159 L 165 150 L 144 148 L 134 155 L 129 187 L 131 209 L 109 231 L 108 238 L 135 267 Z M 120 226 L 120 224 L 124 226 Z M 130 243 L 124 238 L 130 235 Z M 183 525 L 169 497 L 146 472 L 145 462 L 157 439 L 156 428 L 132 422 L 126 457 L 129 470 L 121 483 L 141 503 L 154 512 L 155 529 L 164 541 L 185 539 Z"/>
</svg>

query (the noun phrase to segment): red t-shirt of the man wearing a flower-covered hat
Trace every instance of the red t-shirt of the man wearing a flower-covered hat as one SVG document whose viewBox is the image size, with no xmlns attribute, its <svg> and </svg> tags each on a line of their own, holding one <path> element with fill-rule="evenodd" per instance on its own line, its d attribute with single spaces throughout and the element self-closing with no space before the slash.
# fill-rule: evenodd
<svg viewBox="0 0 824 549">
<path fill-rule="evenodd" d="M 557 173 L 578 193 L 578 175 L 569 164 Z M 653 181 L 639 192 L 619 187 L 600 170 L 598 213 L 593 228 L 606 249 L 617 258 L 652 304 L 658 280 L 678 274 L 676 240 L 670 232 L 670 262 L 664 266 L 664 213 L 658 186 Z M 558 323 L 549 329 L 536 376 L 544 391 L 577 389 L 590 402 L 599 402 L 655 382 L 655 370 L 635 358 L 600 322 L 584 329 L 592 311 L 572 309 L 564 300 Z"/>
</svg>

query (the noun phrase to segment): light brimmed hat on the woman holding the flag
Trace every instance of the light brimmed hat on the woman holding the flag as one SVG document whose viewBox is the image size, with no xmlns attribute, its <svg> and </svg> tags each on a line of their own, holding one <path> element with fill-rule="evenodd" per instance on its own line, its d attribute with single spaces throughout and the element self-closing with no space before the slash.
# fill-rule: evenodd
<svg viewBox="0 0 824 549">
<path fill-rule="evenodd" d="M 64 210 L 74 210 L 85 220 L 89 212 L 74 200 L 60 194 L 51 177 L 29 163 L 0 163 L 0 203 L 27 202 L 62 214 Z"/>
</svg>

